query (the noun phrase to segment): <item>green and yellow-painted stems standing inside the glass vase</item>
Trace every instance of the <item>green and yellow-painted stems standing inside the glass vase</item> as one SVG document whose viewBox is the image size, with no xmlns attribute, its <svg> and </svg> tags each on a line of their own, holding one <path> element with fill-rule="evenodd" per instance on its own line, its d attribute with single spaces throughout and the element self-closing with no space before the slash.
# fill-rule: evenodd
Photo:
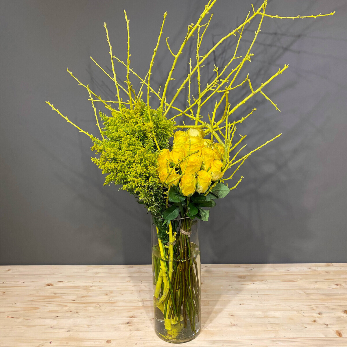
<svg viewBox="0 0 347 347">
<path fill-rule="evenodd" d="M 168 253 L 160 238 L 158 245 L 160 259 L 153 257 L 155 274 L 154 303 L 164 315 L 165 328 L 172 324 L 188 326 L 196 333 L 196 320 L 200 320 L 200 279 L 196 262 L 196 252 L 190 241 L 192 220 L 182 219 L 181 228 L 174 240 L 172 226 L 169 224 Z M 157 228 L 158 235 L 158 228 Z"/>
</svg>

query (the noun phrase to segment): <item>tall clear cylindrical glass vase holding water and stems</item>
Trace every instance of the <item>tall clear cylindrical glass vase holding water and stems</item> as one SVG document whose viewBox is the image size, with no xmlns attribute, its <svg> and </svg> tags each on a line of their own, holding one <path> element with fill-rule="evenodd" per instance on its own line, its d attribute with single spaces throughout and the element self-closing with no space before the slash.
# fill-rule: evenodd
<svg viewBox="0 0 347 347">
<path fill-rule="evenodd" d="M 194 339 L 201 327 L 197 220 L 152 217 L 152 273 L 156 334 L 172 343 Z"/>
</svg>

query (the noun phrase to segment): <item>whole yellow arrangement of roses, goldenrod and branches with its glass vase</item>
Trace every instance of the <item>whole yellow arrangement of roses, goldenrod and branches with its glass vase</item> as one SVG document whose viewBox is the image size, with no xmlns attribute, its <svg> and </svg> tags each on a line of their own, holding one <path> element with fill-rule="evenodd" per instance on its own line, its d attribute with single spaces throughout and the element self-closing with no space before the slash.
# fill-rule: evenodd
<svg viewBox="0 0 347 347">
<path fill-rule="evenodd" d="M 114 83 L 115 99 L 104 100 L 67 70 L 88 93 L 99 136 L 81 129 L 46 101 L 61 117 L 91 138 L 91 149 L 96 154 L 92 160 L 103 174 L 107 174 L 104 184 L 120 185 L 120 189 L 133 194 L 151 213 L 156 237 L 152 257 L 156 332 L 161 338 L 171 342 L 188 341 L 200 330 L 200 259 L 197 243 L 192 241 L 196 221 L 207 221 L 210 212 L 208 208 L 216 205 L 215 200 L 227 196 L 238 186 L 242 176 L 231 186 L 228 181 L 245 160 L 281 135 L 243 155 L 240 152 L 246 146 L 242 145 L 246 135 L 240 135 L 239 138 L 235 136 L 237 126 L 250 117 L 256 108 L 238 118 L 234 113 L 254 95 L 262 94 L 278 110 L 277 105 L 263 92 L 263 88 L 282 74 L 288 65 L 284 65 L 257 87 L 252 85 L 248 74 L 237 79 L 243 67 L 251 62 L 254 55 L 251 50 L 263 20 L 266 17 L 316 18 L 334 13 L 280 17 L 266 13 L 268 1 L 263 0 L 259 8 L 252 5 L 241 24 L 202 54 L 201 44 L 212 20 L 213 14 L 210 11 L 216 1 L 209 0 L 197 22 L 188 25 L 187 34 L 177 53 L 172 52 L 168 37 L 166 38 L 173 62 L 162 90 L 161 86 L 159 89 L 152 87 L 151 74 L 167 13 L 164 14 L 145 77 L 139 76 L 130 67 L 129 20 L 126 12 L 124 11 L 128 34 L 126 62 L 113 54 L 107 25 L 104 24 L 112 73 L 109 74 L 91 59 Z M 258 28 L 251 43 L 245 51 L 239 52 L 244 28 L 256 19 L 259 19 Z M 187 77 L 169 99 L 168 91 L 174 79 L 172 75 L 177 61 L 187 42 L 192 41 L 193 37 L 194 62 L 192 58 L 189 60 Z M 202 73 L 202 70 L 206 68 L 206 60 L 230 37 L 237 38 L 234 54 L 225 66 L 214 66 L 214 76 L 204 80 L 207 74 Z M 124 83 L 117 77 L 115 61 L 126 69 Z M 141 85 L 138 91 L 135 91 L 130 82 L 130 76 L 138 79 Z M 246 96 L 237 102 L 230 102 L 229 94 L 242 87 L 249 88 Z M 178 107 L 175 101 L 183 90 L 188 90 L 186 105 Z M 151 95 L 158 98 L 160 105 L 157 109 L 151 107 Z M 124 96 L 126 101 L 123 100 Z M 214 102 L 214 107 L 207 108 L 209 101 Z M 105 107 L 108 114 L 101 111 L 97 113 L 98 103 Z M 178 122 L 179 119 L 182 121 Z"/>
</svg>

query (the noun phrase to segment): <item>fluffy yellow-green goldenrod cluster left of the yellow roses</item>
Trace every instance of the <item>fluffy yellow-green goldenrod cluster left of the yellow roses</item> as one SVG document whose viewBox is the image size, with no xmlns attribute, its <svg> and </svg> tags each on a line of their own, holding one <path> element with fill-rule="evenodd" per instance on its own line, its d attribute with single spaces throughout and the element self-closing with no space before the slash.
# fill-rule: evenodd
<svg viewBox="0 0 347 347">
<path fill-rule="evenodd" d="M 160 109 L 150 112 L 152 121 L 142 100 L 132 110 L 124 106 L 112 111 L 111 117 L 100 112 L 104 139 L 93 136 L 91 150 L 100 154 L 92 161 L 103 174 L 108 174 L 104 185 L 122 185 L 120 189 L 135 195 L 152 214 L 159 215 L 165 209 L 165 201 L 156 171 L 159 152 L 153 133 L 160 149 L 167 148 L 175 122 L 167 120 Z"/>
</svg>

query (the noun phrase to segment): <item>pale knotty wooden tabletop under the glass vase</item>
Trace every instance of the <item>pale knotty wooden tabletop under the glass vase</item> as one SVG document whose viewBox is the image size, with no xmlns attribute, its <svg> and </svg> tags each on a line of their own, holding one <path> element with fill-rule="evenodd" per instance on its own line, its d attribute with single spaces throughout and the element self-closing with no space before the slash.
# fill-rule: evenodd
<svg viewBox="0 0 347 347">
<path fill-rule="evenodd" d="M 347 346 L 347 263 L 201 272 L 202 330 L 185 346 Z M 151 280 L 149 265 L 0 266 L 0 346 L 169 346 Z"/>
</svg>

